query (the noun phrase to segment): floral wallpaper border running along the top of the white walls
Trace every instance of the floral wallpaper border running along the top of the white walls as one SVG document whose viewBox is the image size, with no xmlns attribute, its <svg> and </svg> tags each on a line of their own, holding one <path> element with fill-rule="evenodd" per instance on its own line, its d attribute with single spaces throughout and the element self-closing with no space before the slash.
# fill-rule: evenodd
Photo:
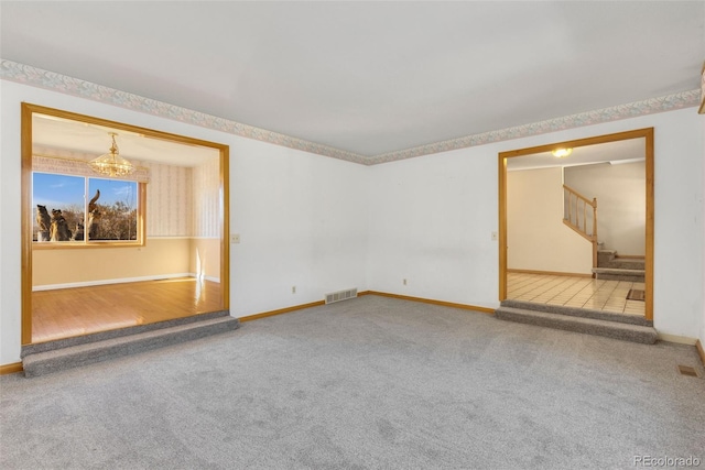
<svg viewBox="0 0 705 470">
<path fill-rule="evenodd" d="M 562 118 L 547 119 L 545 121 L 516 125 L 479 134 L 469 134 L 457 139 L 434 142 L 395 152 L 365 156 L 354 152 L 268 131 L 265 129 L 230 121 L 228 119 L 217 118 L 204 112 L 169 105 L 163 101 L 141 97 L 127 91 L 120 91 L 102 85 L 67 77 L 54 72 L 44 70 L 12 61 L 1 59 L 0 78 L 362 165 L 376 165 L 380 163 L 412 159 L 415 156 L 430 155 L 452 150 L 636 118 L 639 116 L 697 107 L 701 98 L 701 90 L 694 89 L 659 98 L 651 98 L 643 101 L 634 101 L 627 105 L 565 116 Z"/>
</svg>

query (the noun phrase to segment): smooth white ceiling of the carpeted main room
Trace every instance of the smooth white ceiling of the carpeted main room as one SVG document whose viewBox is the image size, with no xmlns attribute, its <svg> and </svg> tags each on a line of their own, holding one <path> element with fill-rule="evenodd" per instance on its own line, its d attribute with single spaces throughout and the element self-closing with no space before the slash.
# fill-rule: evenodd
<svg viewBox="0 0 705 470">
<path fill-rule="evenodd" d="M 703 1 L 2 1 L 0 21 L 3 59 L 366 156 L 697 89 L 705 58 Z"/>
</svg>

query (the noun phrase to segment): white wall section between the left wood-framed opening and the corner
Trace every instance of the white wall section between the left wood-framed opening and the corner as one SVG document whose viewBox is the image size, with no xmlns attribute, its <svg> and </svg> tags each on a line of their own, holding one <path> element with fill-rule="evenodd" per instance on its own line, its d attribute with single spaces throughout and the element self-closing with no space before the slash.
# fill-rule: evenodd
<svg viewBox="0 0 705 470">
<path fill-rule="evenodd" d="M 368 288 L 366 166 L 246 139 L 230 154 L 234 316 Z"/>
</svg>

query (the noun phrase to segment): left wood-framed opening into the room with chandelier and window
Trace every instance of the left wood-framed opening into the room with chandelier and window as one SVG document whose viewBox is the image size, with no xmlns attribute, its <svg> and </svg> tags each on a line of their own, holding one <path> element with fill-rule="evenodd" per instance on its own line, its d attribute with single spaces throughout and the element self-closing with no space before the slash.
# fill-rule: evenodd
<svg viewBox="0 0 705 470">
<path fill-rule="evenodd" d="M 88 165 L 111 138 L 128 175 Z M 22 103 L 22 345 L 228 310 L 228 161 L 224 144 Z"/>
</svg>

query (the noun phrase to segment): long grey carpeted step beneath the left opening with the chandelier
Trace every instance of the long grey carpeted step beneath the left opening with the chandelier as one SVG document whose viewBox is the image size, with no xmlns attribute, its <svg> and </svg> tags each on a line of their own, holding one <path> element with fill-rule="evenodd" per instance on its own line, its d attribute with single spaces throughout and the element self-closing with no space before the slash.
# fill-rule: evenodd
<svg viewBox="0 0 705 470">
<path fill-rule="evenodd" d="M 240 321 L 230 316 L 198 319 L 197 321 L 51 349 L 44 352 L 25 353 L 22 367 L 25 376 L 36 376 L 200 339 L 235 330 L 239 326 Z"/>
</svg>

